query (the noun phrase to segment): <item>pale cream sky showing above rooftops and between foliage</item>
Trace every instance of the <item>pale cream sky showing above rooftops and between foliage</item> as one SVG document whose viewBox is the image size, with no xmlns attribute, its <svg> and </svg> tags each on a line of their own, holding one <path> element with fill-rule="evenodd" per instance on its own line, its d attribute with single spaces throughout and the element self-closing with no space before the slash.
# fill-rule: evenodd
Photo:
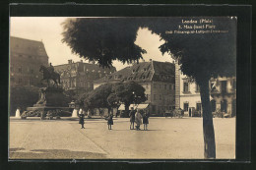
<svg viewBox="0 0 256 170">
<path fill-rule="evenodd" d="M 66 17 L 11 17 L 10 35 L 42 41 L 49 57 L 49 63 L 53 66 L 67 64 L 70 59 L 74 62 L 81 61 L 82 58 L 73 54 L 70 47 L 61 42 L 63 31 L 61 24 L 66 19 Z M 152 34 L 150 30 L 140 28 L 135 43 L 147 50 L 147 53 L 143 54 L 145 61 L 152 59 L 172 62 L 168 54 L 161 55 L 159 46 L 163 42 L 160 41 L 159 35 Z M 84 62 L 87 61 L 84 60 Z M 128 65 L 114 61 L 113 66 L 118 71 Z"/>
</svg>

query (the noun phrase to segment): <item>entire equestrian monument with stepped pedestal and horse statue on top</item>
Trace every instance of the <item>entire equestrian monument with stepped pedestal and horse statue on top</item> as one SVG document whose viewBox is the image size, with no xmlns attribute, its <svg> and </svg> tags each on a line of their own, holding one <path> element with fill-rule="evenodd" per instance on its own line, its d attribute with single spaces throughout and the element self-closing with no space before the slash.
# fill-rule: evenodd
<svg viewBox="0 0 256 170">
<path fill-rule="evenodd" d="M 22 118 L 30 116 L 59 117 L 61 114 L 71 116 L 72 108 L 68 107 L 69 99 L 60 86 L 60 75 L 54 72 L 51 65 L 49 68 L 41 66 L 39 71 L 43 74 L 41 83 L 46 81 L 47 85 L 39 88 L 38 101 L 32 107 L 27 108 L 27 111 L 22 114 Z"/>
</svg>

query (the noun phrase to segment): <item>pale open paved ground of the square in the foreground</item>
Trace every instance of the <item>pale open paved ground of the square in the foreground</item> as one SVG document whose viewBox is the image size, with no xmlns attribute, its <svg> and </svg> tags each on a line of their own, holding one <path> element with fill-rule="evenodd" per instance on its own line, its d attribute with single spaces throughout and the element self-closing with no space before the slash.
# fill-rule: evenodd
<svg viewBox="0 0 256 170">
<path fill-rule="evenodd" d="M 10 119 L 11 159 L 202 159 L 202 118 L 150 118 L 148 131 L 129 129 L 129 119 Z M 214 119 L 217 158 L 234 158 L 235 118 Z M 141 127 L 143 129 L 143 126 Z"/>
</svg>

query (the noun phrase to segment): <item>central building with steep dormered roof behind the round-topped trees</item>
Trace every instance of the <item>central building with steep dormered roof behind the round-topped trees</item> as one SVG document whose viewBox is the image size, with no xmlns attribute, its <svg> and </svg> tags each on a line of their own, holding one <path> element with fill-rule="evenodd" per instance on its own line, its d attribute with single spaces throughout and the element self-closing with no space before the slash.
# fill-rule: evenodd
<svg viewBox="0 0 256 170">
<path fill-rule="evenodd" d="M 95 88 L 106 83 L 135 81 L 146 91 L 151 114 L 163 114 L 174 108 L 175 68 L 168 62 L 141 62 L 95 81 Z"/>
</svg>

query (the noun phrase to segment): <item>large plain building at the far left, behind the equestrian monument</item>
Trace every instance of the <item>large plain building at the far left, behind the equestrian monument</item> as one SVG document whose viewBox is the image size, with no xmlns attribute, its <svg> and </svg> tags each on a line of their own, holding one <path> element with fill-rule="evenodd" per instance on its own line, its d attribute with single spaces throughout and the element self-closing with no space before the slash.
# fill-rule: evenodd
<svg viewBox="0 0 256 170">
<path fill-rule="evenodd" d="M 10 37 L 10 85 L 38 85 L 40 65 L 48 66 L 48 55 L 41 41 Z"/>
</svg>

